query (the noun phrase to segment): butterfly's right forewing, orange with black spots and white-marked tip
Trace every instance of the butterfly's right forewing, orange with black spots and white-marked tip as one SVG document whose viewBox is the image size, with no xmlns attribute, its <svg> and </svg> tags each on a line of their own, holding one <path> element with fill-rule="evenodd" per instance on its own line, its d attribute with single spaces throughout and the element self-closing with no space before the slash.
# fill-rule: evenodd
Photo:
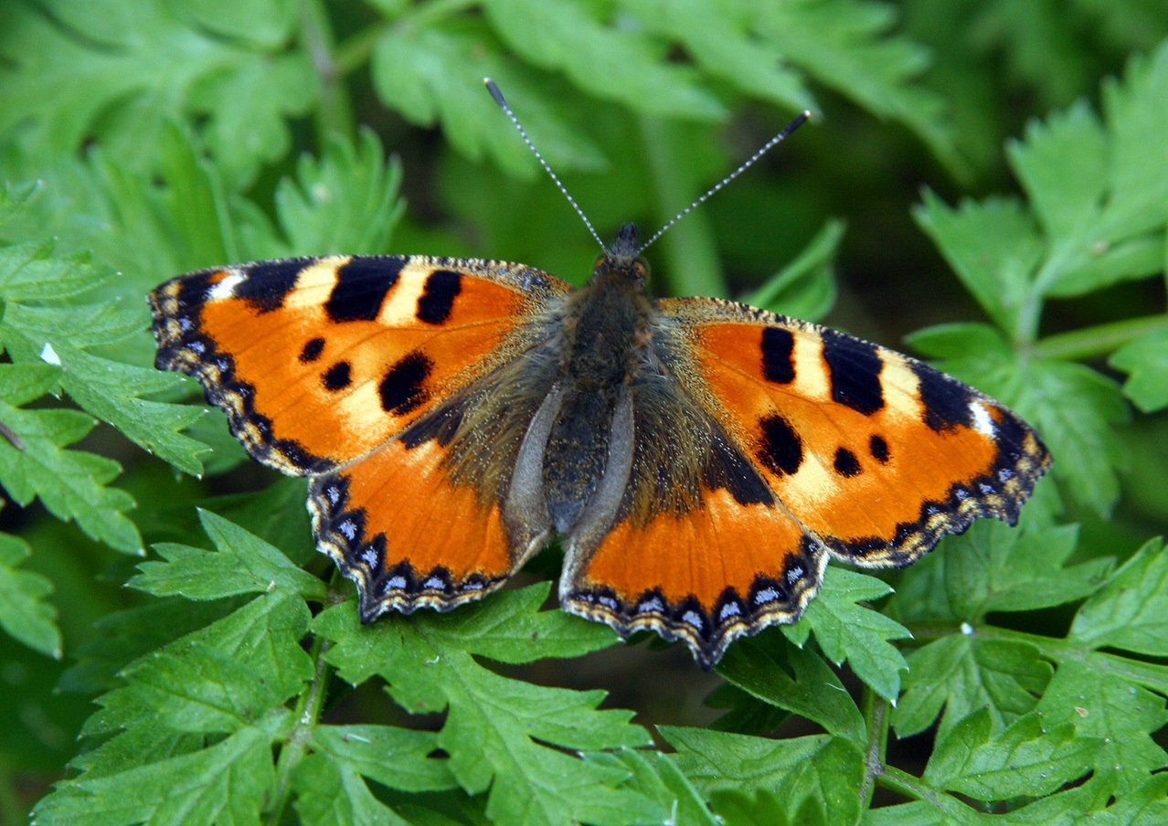
<svg viewBox="0 0 1168 826">
<path fill-rule="evenodd" d="M 1050 465 L 1018 416 L 916 359 L 730 301 L 662 308 L 691 320 L 690 390 L 844 561 L 902 567 L 979 516 L 1014 525 Z"/>
</svg>

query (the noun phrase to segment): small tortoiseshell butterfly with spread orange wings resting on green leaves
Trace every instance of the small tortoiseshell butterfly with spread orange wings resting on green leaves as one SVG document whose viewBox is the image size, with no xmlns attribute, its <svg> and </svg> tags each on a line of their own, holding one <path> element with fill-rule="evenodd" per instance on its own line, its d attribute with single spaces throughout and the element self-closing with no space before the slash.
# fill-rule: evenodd
<svg viewBox="0 0 1168 826">
<path fill-rule="evenodd" d="M 834 329 L 654 301 L 639 252 L 621 228 L 578 290 L 474 258 L 213 268 L 151 294 L 157 365 L 311 477 L 364 622 L 480 599 L 557 534 L 566 611 L 709 667 L 798 620 L 829 555 L 901 567 L 1016 522 L 1050 457 L 1006 407 Z"/>
</svg>

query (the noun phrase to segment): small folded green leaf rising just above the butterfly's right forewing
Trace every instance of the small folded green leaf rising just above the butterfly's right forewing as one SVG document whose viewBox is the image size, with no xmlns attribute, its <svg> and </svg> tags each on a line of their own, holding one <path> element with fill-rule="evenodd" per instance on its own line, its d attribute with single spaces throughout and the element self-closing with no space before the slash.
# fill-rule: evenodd
<svg viewBox="0 0 1168 826">
<path fill-rule="evenodd" d="M 843 238 L 842 221 L 828 221 L 804 250 L 742 300 L 793 318 L 818 321 L 835 304 L 832 261 Z"/>
</svg>

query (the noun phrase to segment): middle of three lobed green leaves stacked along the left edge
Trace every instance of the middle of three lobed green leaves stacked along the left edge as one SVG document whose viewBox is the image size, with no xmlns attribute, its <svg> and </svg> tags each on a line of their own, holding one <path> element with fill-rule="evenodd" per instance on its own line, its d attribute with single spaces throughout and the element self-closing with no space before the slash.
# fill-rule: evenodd
<svg viewBox="0 0 1168 826">
<path fill-rule="evenodd" d="M 23 403 L 30 387 L 43 393 L 58 375 L 44 365 L 0 365 L 0 398 Z M 124 514 L 133 499 L 106 487 L 121 466 L 93 453 L 63 450 L 92 430 L 92 418 L 76 410 L 21 410 L 0 401 L 0 422 L 20 439 L 19 447 L 0 439 L 0 485 L 18 505 L 40 498 L 49 513 L 75 520 L 93 539 L 117 550 L 141 553 L 138 529 Z"/>
</svg>

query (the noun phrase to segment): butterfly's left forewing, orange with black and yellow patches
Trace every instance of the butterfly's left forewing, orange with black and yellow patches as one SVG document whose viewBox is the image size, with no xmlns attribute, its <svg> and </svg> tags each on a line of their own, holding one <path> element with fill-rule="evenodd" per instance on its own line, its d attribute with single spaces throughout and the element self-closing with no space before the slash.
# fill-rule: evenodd
<svg viewBox="0 0 1168 826">
<path fill-rule="evenodd" d="M 520 321 L 570 289 L 520 264 L 329 256 L 193 272 L 150 301 L 158 368 L 196 376 L 255 458 L 304 476 L 514 358 Z"/>
</svg>

